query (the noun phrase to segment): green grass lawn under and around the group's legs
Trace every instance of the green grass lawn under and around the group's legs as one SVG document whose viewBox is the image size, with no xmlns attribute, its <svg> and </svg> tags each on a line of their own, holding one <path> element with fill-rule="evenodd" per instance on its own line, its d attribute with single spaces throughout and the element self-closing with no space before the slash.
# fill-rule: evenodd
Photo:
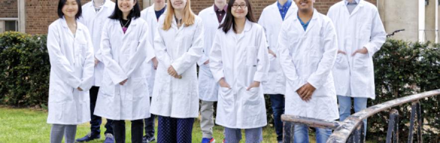
<svg viewBox="0 0 440 143">
<path fill-rule="evenodd" d="M 0 143 L 48 143 L 51 125 L 46 123 L 46 119 L 46 111 L 0 107 Z M 105 123 L 105 120 L 103 122 Z M 126 126 L 126 143 L 131 143 L 130 122 L 127 122 Z M 213 130 L 216 143 L 221 143 L 223 127 L 215 126 Z M 88 123 L 78 125 L 76 138 L 85 136 L 89 131 L 90 125 Z M 101 139 L 88 143 L 102 143 L 104 141 L 103 131 L 105 131 L 104 124 L 101 125 Z M 199 120 L 195 120 L 192 129 L 192 143 L 200 143 L 201 138 Z M 245 143 L 244 134 L 242 139 L 241 143 Z M 263 143 L 276 143 L 273 127 L 263 128 L 263 140 Z"/>
</svg>

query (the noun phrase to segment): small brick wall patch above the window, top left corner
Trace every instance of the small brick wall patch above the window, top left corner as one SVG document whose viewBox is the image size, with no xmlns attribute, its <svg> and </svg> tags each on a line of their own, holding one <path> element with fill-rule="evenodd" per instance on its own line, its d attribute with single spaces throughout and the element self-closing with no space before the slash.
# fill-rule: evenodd
<svg viewBox="0 0 440 143">
<path fill-rule="evenodd" d="M 0 0 L 0 18 L 17 18 L 17 5 L 17 0 Z"/>
</svg>

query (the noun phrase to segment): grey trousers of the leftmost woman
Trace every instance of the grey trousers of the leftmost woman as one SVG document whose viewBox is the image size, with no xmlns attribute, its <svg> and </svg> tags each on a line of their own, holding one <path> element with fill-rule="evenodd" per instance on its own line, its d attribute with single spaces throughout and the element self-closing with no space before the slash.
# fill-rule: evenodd
<svg viewBox="0 0 440 143">
<path fill-rule="evenodd" d="M 75 143 L 75 135 L 77 133 L 77 125 L 61 125 L 52 124 L 50 129 L 50 143 L 61 143 L 63 136 L 64 143 Z"/>
</svg>

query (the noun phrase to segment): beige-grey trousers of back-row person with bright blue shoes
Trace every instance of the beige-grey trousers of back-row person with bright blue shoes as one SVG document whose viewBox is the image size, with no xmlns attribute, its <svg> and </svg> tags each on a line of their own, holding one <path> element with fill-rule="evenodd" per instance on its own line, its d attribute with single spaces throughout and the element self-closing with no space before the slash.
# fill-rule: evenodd
<svg viewBox="0 0 440 143">
<path fill-rule="evenodd" d="M 212 138 L 212 128 L 214 127 L 214 102 L 203 101 L 200 103 L 200 129 L 202 130 L 202 138 Z"/>
</svg>

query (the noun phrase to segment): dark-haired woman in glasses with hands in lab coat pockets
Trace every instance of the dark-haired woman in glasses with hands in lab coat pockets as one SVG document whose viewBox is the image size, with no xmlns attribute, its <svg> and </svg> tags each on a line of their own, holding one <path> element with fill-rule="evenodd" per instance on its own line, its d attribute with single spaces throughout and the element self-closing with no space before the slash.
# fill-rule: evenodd
<svg viewBox="0 0 440 143">
<path fill-rule="evenodd" d="M 269 60 L 264 29 L 255 23 L 249 0 L 230 0 L 211 49 L 209 66 L 218 81 L 216 124 L 225 127 L 225 143 L 263 140 L 266 126 L 263 89 Z"/>
</svg>

